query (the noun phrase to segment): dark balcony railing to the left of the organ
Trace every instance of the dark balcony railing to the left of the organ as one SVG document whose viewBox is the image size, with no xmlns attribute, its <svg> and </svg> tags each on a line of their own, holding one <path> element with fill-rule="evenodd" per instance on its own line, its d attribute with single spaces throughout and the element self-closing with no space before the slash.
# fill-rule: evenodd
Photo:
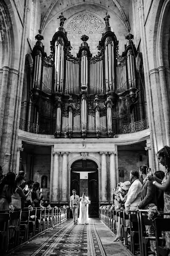
<svg viewBox="0 0 170 256">
<path fill-rule="evenodd" d="M 20 130 L 36 134 L 51 134 L 51 125 L 37 124 L 20 119 Z"/>
</svg>

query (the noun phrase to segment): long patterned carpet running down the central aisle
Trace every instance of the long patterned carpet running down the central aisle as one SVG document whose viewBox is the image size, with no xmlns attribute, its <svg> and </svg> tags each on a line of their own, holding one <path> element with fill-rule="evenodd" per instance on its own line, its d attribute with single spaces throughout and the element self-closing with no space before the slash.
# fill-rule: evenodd
<svg viewBox="0 0 170 256">
<path fill-rule="evenodd" d="M 94 221 L 88 225 L 66 224 L 32 256 L 105 256 Z"/>
</svg>

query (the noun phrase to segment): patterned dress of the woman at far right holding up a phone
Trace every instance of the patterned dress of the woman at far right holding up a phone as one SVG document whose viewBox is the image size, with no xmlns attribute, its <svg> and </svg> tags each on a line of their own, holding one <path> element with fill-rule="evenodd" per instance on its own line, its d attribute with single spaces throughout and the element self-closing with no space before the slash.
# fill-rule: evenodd
<svg viewBox="0 0 170 256">
<path fill-rule="evenodd" d="M 169 172 L 165 172 L 165 176 L 162 180 L 162 185 L 167 181 Z M 164 212 L 170 213 L 170 191 L 164 192 Z M 170 215 L 164 215 L 164 218 L 170 218 Z M 166 247 L 170 248 L 170 232 L 165 232 Z"/>
</svg>

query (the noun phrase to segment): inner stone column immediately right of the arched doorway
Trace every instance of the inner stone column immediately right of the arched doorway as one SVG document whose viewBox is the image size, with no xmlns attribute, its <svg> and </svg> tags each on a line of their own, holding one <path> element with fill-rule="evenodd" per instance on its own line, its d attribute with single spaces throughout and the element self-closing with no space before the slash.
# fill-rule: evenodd
<svg viewBox="0 0 170 256">
<path fill-rule="evenodd" d="M 99 152 L 101 155 L 101 204 L 108 204 L 107 200 L 107 168 L 106 168 L 106 155 L 108 152 Z"/>
</svg>

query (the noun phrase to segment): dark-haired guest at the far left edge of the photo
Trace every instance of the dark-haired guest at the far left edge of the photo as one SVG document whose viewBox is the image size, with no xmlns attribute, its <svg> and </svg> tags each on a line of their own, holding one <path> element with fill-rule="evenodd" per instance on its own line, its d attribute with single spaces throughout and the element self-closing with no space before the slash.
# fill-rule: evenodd
<svg viewBox="0 0 170 256">
<path fill-rule="evenodd" d="M 11 194 L 14 187 L 15 174 L 8 172 L 0 182 L 0 210 L 8 210 L 11 203 Z"/>
</svg>

